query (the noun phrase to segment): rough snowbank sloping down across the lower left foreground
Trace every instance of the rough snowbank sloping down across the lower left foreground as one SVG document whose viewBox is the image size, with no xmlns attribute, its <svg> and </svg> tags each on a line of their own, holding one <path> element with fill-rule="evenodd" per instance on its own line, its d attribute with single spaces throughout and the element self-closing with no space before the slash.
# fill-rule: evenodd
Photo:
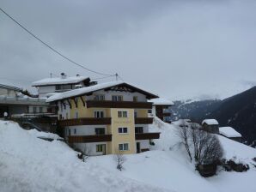
<svg viewBox="0 0 256 192">
<path fill-rule="evenodd" d="M 0 121 L 0 191 L 169 190 L 83 163 L 64 142 L 40 140 L 17 123 Z"/>
</svg>

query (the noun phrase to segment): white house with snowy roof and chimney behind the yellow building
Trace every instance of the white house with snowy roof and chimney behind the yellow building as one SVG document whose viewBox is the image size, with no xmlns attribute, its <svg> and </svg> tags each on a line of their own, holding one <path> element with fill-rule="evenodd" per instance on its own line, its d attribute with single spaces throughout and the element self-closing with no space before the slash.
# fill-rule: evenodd
<svg viewBox="0 0 256 192">
<path fill-rule="evenodd" d="M 95 82 L 90 81 L 90 78 L 85 76 L 76 75 L 68 77 L 62 73 L 60 77 L 34 81 L 32 86 L 38 89 L 40 98 L 48 98 L 55 93 L 63 93 L 80 87 L 88 87 L 93 83 Z"/>
</svg>

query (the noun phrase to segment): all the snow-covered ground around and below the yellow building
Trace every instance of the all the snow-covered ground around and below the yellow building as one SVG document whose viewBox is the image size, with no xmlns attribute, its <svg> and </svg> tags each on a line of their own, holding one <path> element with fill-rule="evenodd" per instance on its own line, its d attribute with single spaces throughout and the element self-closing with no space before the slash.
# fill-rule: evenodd
<svg viewBox="0 0 256 192">
<path fill-rule="evenodd" d="M 152 151 L 125 155 L 125 170 L 118 171 L 113 155 L 83 163 L 62 141 L 43 141 L 0 121 L 0 191 L 256 191 L 253 166 L 201 177 L 177 145 L 176 127 L 155 118 L 150 131 L 162 134 Z M 219 137 L 227 159 L 253 163 L 254 148 Z"/>
</svg>

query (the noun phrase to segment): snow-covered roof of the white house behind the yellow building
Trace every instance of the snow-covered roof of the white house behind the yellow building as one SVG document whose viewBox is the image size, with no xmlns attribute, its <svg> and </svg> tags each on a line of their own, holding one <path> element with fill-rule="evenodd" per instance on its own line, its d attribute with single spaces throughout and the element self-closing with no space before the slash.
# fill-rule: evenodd
<svg viewBox="0 0 256 192">
<path fill-rule="evenodd" d="M 63 84 L 76 84 L 85 80 L 89 80 L 86 76 L 70 76 L 70 77 L 54 77 L 54 78 L 46 78 L 40 81 L 34 81 L 32 83 L 33 87 L 40 86 L 51 86 L 51 85 L 63 85 Z"/>
</svg>

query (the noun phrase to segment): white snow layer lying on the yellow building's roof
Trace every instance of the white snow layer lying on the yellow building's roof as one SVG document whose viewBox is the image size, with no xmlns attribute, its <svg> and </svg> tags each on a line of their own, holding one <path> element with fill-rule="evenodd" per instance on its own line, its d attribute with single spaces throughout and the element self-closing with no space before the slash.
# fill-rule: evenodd
<svg viewBox="0 0 256 192">
<path fill-rule="evenodd" d="M 66 99 L 66 98 L 74 97 L 77 95 L 82 95 L 85 93 L 92 93 L 92 92 L 95 92 L 95 91 L 98 91 L 98 90 L 101 90 L 101 89 L 104 89 L 107 87 L 118 86 L 123 83 L 125 83 L 125 81 L 109 81 L 109 82 L 103 82 L 103 83 L 100 83 L 100 84 L 97 84 L 94 86 L 90 86 L 90 87 L 82 87 L 82 88 L 70 90 L 68 92 L 53 95 L 52 97 L 46 99 L 46 102 L 52 102 L 55 100 Z M 128 84 L 128 83 L 125 83 L 125 84 Z M 130 85 L 130 84 L 128 84 L 128 85 Z"/>
</svg>

